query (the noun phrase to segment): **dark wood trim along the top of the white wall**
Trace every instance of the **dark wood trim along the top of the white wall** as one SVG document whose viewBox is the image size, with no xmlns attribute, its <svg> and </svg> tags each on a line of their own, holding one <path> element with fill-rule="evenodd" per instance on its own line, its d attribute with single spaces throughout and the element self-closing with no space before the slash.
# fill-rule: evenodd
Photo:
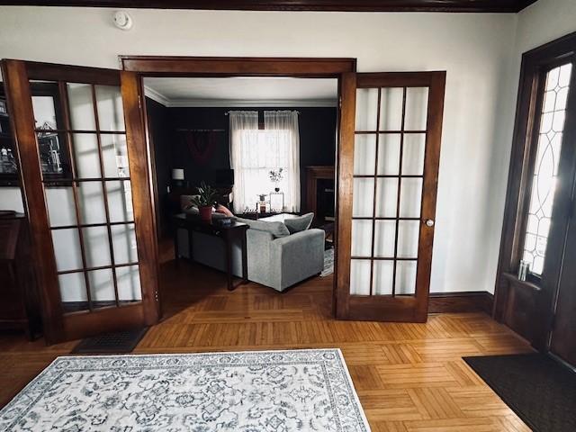
<svg viewBox="0 0 576 432">
<path fill-rule="evenodd" d="M 0 0 L 0 4 L 252 11 L 516 13 L 536 0 Z"/>
</svg>

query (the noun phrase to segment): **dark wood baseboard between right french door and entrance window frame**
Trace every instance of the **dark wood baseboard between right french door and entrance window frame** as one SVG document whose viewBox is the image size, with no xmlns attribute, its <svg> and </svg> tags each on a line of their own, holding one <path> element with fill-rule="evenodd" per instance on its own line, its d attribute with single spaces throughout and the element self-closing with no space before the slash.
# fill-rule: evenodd
<svg viewBox="0 0 576 432">
<path fill-rule="evenodd" d="M 494 295 L 487 291 L 430 293 L 428 313 L 486 312 L 492 314 Z"/>
</svg>

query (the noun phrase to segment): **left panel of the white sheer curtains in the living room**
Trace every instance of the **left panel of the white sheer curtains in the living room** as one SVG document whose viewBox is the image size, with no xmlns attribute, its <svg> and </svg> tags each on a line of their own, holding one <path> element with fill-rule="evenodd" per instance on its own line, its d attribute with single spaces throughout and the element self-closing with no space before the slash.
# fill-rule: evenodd
<svg viewBox="0 0 576 432">
<path fill-rule="evenodd" d="M 257 197 L 250 196 L 253 183 L 252 173 L 245 169 L 254 158 L 258 141 L 258 112 L 229 112 L 230 166 L 234 170 L 234 212 L 241 213 L 247 208 L 256 208 Z"/>
</svg>

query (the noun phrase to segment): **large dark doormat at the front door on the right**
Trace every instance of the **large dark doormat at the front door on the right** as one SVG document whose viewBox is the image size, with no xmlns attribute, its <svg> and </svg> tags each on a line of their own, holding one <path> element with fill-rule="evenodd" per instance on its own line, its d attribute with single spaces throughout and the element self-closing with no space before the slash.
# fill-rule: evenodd
<svg viewBox="0 0 576 432">
<path fill-rule="evenodd" d="M 536 432 L 576 431 L 576 373 L 543 354 L 464 357 Z"/>
</svg>

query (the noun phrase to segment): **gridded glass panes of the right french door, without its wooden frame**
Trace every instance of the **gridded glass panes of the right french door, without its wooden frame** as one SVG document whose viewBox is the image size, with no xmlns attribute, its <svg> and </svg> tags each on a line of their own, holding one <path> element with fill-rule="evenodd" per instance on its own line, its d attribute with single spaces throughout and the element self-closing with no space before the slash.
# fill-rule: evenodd
<svg viewBox="0 0 576 432">
<path fill-rule="evenodd" d="M 359 88 L 352 210 L 352 295 L 414 295 L 428 87 Z"/>
</svg>

